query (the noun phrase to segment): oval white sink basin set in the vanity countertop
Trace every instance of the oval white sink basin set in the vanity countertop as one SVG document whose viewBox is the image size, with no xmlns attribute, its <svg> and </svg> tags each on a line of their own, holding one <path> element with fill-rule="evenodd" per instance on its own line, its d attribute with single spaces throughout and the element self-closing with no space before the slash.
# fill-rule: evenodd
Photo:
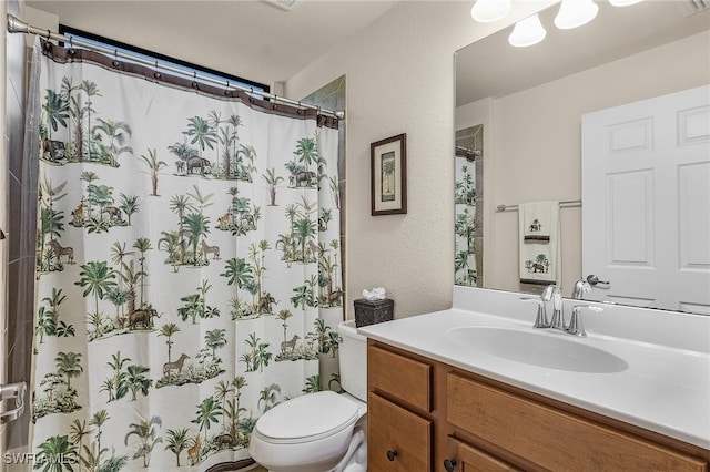
<svg viewBox="0 0 710 472">
<path fill-rule="evenodd" d="M 585 345 L 584 339 L 490 326 L 452 328 L 446 336 L 475 352 L 549 369 L 611 373 L 628 369 L 623 359 Z"/>
</svg>

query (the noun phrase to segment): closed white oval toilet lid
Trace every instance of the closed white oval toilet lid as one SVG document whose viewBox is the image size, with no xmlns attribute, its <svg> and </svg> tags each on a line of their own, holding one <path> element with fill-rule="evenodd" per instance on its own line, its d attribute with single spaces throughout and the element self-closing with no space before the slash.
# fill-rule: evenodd
<svg viewBox="0 0 710 472">
<path fill-rule="evenodd" d="M 357 421 L 357 406 L 333 391 L 296 397 L 268 410 L 256 422 L 275 442 L 305 442 L 334 434 Z"/>
</svg>

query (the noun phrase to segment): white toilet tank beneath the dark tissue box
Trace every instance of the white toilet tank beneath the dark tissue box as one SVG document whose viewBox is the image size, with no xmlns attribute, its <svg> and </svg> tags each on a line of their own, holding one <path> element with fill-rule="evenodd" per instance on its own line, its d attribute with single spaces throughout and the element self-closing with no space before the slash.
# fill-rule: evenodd
<svg viewBox="0 0 710 472">
<path fill-rule="evenodd" d="M 338 348 L 341 387 L 353 397 L 367 401 L 367 338 L 357 334 L 355 320 L 337 326 L 343 338 Z"/>
</svg>

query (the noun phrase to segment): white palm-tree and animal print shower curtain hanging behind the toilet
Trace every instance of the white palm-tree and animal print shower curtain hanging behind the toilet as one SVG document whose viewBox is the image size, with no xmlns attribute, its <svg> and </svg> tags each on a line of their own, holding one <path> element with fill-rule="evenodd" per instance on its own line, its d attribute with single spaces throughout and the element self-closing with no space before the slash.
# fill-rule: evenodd
<svg viewBox="0 0 710 472">
<path fill-rule="evenodd" d="M 36 466 L 236 468 L 261 414 L 339 389 L 338 122 L 36 50 Z"/>
</svg>

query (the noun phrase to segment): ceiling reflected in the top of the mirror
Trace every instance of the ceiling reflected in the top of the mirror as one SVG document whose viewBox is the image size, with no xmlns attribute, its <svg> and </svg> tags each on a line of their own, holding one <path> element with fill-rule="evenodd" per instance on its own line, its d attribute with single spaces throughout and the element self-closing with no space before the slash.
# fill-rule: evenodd
<svg viewBox="0 0 710 472">
<path fill-rule="evenodd" d="M 547 37 L 536 45 L 509 45 L 510 27 L 457 51 L 456 106 L 505 96 L 710 29 L 710 9 L 690 14 L 689 1 L 647 0 L 623 8 L 597 1 L 597 18 L 574 30 L 555 28 L 559 7 L 552 6 L 540 13 Z M 710 53 L 710 44 L 708 49 Z"/>
</svg>

